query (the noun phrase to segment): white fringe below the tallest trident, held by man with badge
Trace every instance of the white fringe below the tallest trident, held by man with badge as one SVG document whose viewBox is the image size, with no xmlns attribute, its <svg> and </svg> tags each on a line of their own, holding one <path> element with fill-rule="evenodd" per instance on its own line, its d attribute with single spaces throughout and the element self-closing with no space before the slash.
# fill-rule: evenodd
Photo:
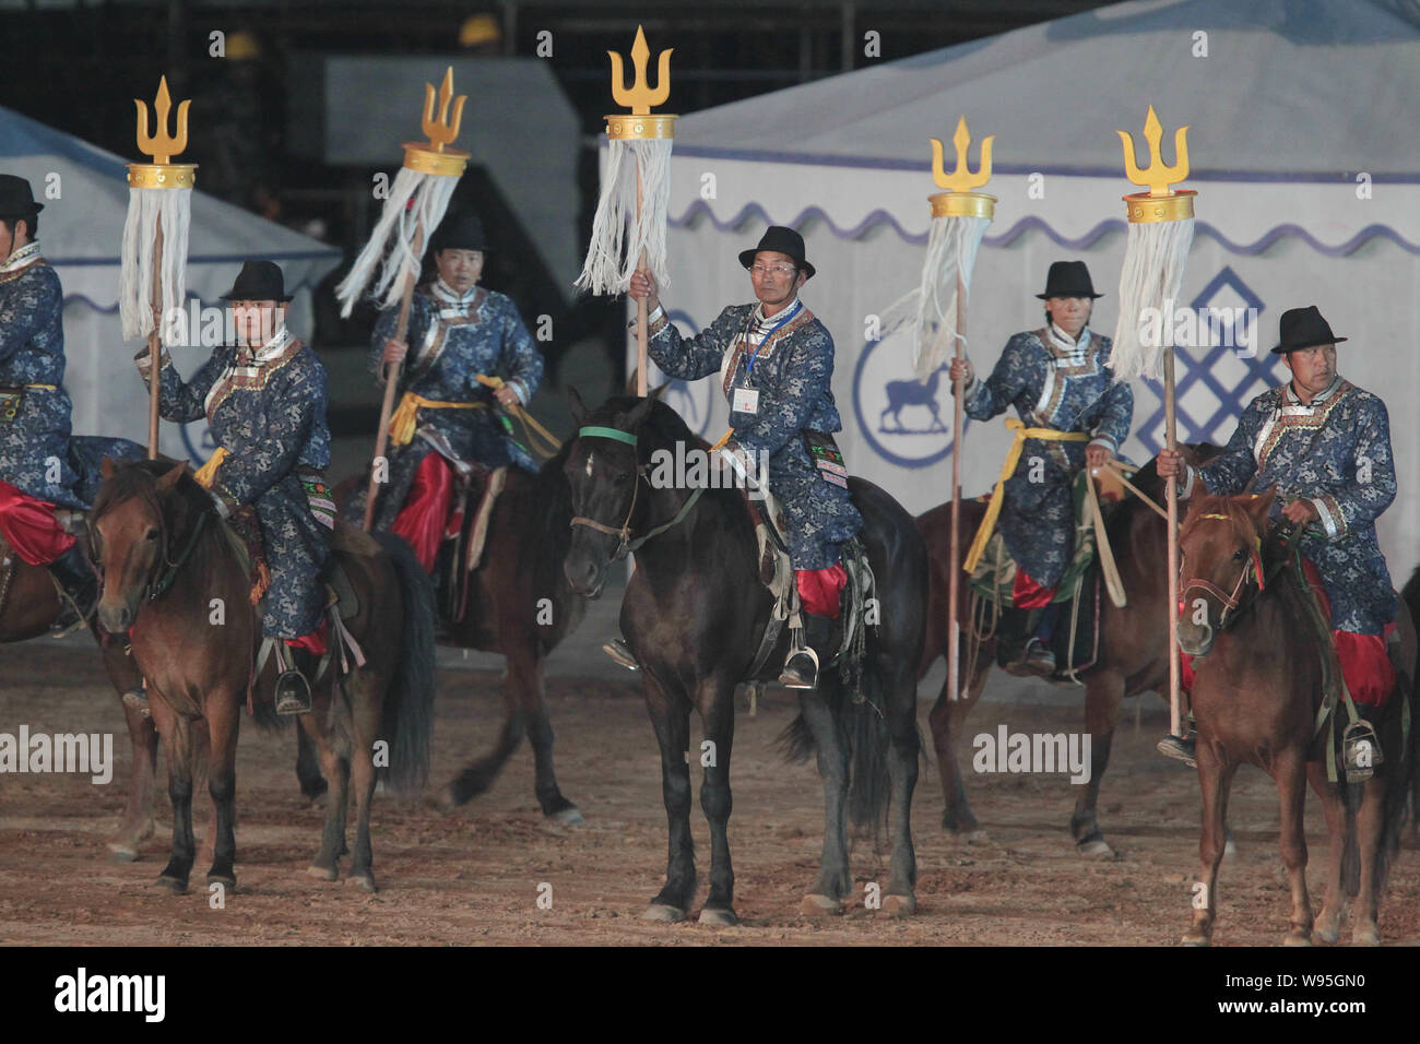
<svg viewBox="0 0 1420 1044">
<path fill-rule="evenodd" d="M 662 290 L 670 286 L 666 263 L 666 216 L 670 209 L 670 138 L 612 139 L 606 175 L 596 202 L 586 263 L 574 286 L 594 294 L 623 294 L 630 277 L 646 267 Z M 640 172 L 642 206 L 636 214 L 636 173 Z"/>
</svg>

